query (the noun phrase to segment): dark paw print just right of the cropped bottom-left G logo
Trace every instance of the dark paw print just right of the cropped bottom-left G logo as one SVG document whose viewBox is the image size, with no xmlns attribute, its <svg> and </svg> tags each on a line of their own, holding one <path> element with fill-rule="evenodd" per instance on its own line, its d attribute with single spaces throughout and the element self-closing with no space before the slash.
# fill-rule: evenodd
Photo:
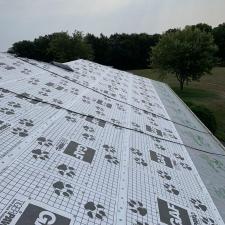
<svg viewBox="0 0 225 225">
<path fill-rule="evenodd" d="M 103 220 L 104 217 L 106 217 L 106 214 L 104 212 L 104 207 L 100 204 L 95 205 L 94 202 L 87 202 L 84 205 L 84 208 L 88 211 L 87 215 L 93 219 L 94 217 Z"/>
</svg>

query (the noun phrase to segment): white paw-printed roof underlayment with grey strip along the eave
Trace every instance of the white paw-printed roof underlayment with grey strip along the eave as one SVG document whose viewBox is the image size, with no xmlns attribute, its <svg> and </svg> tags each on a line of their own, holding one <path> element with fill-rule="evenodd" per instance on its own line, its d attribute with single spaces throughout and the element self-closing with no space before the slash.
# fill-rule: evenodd
<svg viewBox="0 0 225 225">
<path fill-rule="evenodd" d="M 65 65 L 0 54 L 0 225 L 224 224 L 225 152 L 172 90 Z"/>
</svg>

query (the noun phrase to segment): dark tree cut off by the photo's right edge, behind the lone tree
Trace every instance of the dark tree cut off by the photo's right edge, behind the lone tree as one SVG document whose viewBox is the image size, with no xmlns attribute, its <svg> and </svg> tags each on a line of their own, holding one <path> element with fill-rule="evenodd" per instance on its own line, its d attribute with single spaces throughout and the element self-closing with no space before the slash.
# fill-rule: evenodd
<svg viewBox="0 0 225 225">
<path fill-rule="evenodd" d="M 218 57 L 225 63 L 225 23 L 213 29 L 213 36 L 218 46 Z"/>
</svg>

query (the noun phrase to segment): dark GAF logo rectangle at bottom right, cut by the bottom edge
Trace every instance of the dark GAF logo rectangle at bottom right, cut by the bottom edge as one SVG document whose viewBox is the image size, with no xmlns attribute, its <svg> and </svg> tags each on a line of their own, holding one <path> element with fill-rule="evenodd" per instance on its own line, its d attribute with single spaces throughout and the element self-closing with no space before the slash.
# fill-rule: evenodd
<svg viewBox="0 0 225 225">
<path fill-rule="evenodd" d="M 192 225 L 188 211 L 172 203 L 166 202 L 158 198 L 158 207 L 160 214 L 160 221 L 163 224 L 174 225 Z"/>
</svg>

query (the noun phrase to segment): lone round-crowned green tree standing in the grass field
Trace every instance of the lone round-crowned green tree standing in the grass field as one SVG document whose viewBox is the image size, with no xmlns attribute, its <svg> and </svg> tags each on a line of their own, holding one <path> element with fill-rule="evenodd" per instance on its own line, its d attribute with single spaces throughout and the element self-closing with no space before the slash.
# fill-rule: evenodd
<svg viewBox="0 0 225 225">
<path fill-rule="evenodd" d="M 152 66 L 175 74 L 183 90 L 184 82 L 200 80 L 210 73 L 216 50 L 211 33 L 186 27 L 162 36 L 152 49 Z"/>
</svg>

